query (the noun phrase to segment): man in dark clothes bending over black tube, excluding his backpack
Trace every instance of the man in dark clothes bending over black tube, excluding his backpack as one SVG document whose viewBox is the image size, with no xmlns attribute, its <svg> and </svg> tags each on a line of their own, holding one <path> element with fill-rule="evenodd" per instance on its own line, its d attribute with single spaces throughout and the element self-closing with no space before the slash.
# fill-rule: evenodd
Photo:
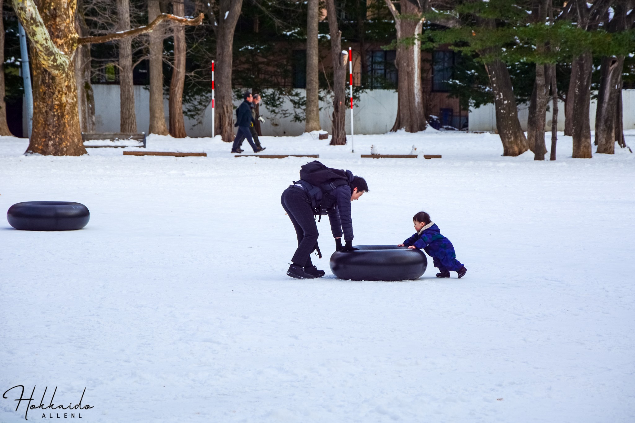
<svg viewBox="0 0 635 423">
<path fill-rule="evenodd" d="M 291 265 L 286 274 L 297 279 L 321 278 L 323 270 L 318 270 L 311 261 L 311 253 L 318 250 L 318 225 L 314 207 L 326 212 L 331 224 L 331 233 L 335 238 L 337 251 L 352 250 L 353 224 L 351 218 L 351 202 L 368 192 L 366 179 L 353 176 L 346 171 L 348 180 L 332 190 L 325 190 L 300 179 L 290 185 L 282 193 L 281 203 L 293 223 L 298 237 L 298 248 L 293 254 Z M 345 244 L 342 245 L 342 235 Z"/>
</svg>

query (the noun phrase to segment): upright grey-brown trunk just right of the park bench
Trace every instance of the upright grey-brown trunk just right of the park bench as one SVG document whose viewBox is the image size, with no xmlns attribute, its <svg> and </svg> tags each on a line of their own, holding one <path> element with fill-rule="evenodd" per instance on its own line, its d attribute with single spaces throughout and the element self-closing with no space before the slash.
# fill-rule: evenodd
<svg viewBox="0 0 635 423">
<path fill-rule="evenodd" d="M 159 0 L 148 0 L 148 22 L 161 15 Z M 150 32 L 150 127 L 148 133 L 167 135 L 163 109 L 163 38 L 165 24 Z"/>
</svg>

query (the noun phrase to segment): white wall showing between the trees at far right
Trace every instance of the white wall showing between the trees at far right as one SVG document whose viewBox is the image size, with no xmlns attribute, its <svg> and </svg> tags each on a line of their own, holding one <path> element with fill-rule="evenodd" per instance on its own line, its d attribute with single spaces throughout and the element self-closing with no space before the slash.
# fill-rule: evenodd
<svg viewBox="0 0 635 423">
<path fill-rule="evenodd" d="M 551 106 L 551 103 L 549 103 Z M 591 131 L 595 129 L 596 115 L 595 100 L 591 101 L 589 118 L 591 119 Z M 635 89 L 624 89 L 622 91 L 622 105 L 624 115 L 624 129 L 635 129 Z M 522 104 L 518 106 L 518 119 L 523 131 L 527 130 L 527 119 L 529 116 L 529 106 Z M 496 131 L 496 113 L 493 104 L 481 106 L 469 111 L 470 131 Z M 565 130 L 565 103 L 558 101 L 558 131 Z M 551 112 L 547 114 L 545 131 L 551 131 Z"/>
</svg>

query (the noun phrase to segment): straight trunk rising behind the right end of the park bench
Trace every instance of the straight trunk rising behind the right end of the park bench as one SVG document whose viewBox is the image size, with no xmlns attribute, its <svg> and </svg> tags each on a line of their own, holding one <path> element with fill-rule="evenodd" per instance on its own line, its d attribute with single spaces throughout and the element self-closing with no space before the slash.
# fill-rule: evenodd
<svg viewBox="0 0 635 423">
<path fill-rule="evenodd" d="M 117 19 L 120 31 L 130 29 L 130 0 L 117 0 Z M 137 132 L 131 37 L 119 40 L 119 128 L 122 133 Z"/>
</svg>

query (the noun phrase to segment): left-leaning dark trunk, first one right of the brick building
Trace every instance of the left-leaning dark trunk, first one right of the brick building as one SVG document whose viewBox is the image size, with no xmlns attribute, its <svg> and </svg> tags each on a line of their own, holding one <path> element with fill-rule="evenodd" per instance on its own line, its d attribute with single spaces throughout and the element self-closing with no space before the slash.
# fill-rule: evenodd
<svg viewBox="0 0 635 423">
<path fill-rule="evenodd" d="M 516 97 L 507 65 L 500 60 L 493 60 L 485 64 L 485 69 L 494 93 L 496 129 L 503 143 L 503 155 L 522 154 L 528 149 L 527 138 L 518 120 Z"/>
</svg>

